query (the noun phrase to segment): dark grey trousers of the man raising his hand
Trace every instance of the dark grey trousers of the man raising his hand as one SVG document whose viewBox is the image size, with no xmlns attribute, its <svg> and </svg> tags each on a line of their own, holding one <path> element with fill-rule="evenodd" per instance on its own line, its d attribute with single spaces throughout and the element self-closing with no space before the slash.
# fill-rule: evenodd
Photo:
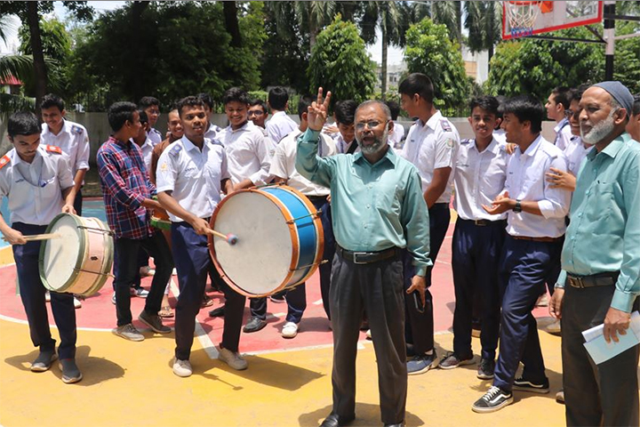
<svg viewBox="0 0 640 427">
<path fill-rule="evenodd" d="M 402 423 L 407 396 L 403 263 L 354 264 L 335 254 L 329 301 L 333 328 L 333 412 L 356 411 L 356 347 L 363 310 L 378 364 L 382 423 Z"/>
</svg>

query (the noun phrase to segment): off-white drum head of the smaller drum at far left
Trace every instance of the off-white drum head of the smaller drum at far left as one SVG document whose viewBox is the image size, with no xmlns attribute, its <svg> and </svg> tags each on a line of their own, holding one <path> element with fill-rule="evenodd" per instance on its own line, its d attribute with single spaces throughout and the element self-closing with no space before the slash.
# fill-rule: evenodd
<svg viewBox="0 0 640 427">
<path fill-rule="evenodd" d="M 40 277 L 44 286 L 52 291 L 60 291 L 70 278 L 76 276 L 74 269 L 81 267 L 80 255 L 84 255 L 84 242 L 78 225 L 74 216 L 60 214 L 47 228 L 47 233 L 61 236 L 44 240 L 40 252 Z"/>
</svg>

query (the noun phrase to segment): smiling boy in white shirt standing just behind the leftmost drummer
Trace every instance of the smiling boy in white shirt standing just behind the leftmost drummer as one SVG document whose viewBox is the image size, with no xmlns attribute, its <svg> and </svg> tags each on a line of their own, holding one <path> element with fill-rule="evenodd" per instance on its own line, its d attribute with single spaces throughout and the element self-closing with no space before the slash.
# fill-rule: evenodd
<svg viewBox="0 0 640 427">
<path fill-rule="evenodd" d="M 82 215 L 82 186 L 84 175 L 89 170 L 90 144 L 89 134 L 83 125 L 67 120 L 67 110 L 64 101 L 58 95 L 49 93 L 44 95 L 42 105 L 42 133 L 43 145 L 60 147 L 68 155 L 71 165 L 71 175 L 76 187 L 74 209 L 76 214 Z"/>
</svg>

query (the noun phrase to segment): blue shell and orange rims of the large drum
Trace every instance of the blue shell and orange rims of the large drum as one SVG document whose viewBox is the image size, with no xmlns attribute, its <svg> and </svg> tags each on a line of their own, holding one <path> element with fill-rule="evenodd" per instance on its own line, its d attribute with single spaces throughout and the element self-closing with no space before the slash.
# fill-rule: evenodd
<svg viewBox="0 0 640 427">
<path fill-rule="evenodd" d="M 324 250 L 323 227 L 319 216 L 316 214 L 316 207 L 307 197 L 300 193 L 300 191 L 284 185 L 236 191 L 230 196 L 225 197 L 216 207 L 212 214 L 210 226 L 213 230 L 220 231 L 223 234 L 235 232 L 239 241 L 243 240 L 244 230 L 218 230 L 216 228 L 216 222 L 220 212 L 223 212 L 229 204 L 229 200 L 233 197 L 239 197 L 243 193 L 259 194 L 277 206 L 280 214 L 282 214 L 281 221 L 286 223 L 289 238 L 291 239 L 292 254 L 289 257 L 290 262 L 287 266 L 286 273 L 283 274 L 282 280 L 277 286 L 274 286 L 266 292 L 257 292 L 251 289 L 251 286 L 247 286 L 251 284 L 236 283 L 236 279 L 229 276 L 225 270 L 225 265 L 220 262 L 216 254 L 216 245 L 227 245 L 227 243 L 224 243 L 224 239 L 210 236 L 209 250 L 212 254 L 212 260 L 216 269 L 220 272 L 220 277 L 236 290 L 236 292 L 249 297 L 275 294 L 308 280 L 321 262 Z"/>
</svg>

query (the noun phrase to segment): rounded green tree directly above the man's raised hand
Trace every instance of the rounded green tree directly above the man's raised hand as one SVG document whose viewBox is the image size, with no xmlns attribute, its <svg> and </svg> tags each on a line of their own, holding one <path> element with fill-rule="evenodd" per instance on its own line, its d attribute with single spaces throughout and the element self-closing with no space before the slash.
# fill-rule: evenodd
<svg viewBox="0 0 640 427">
<path fill-rule="evenodd" d="M 308 76 L 310 92 L 319 86 L 338 100 L 368 100 L 375 85 L 374 64 L 358 36 L 356 24 L 345 22 L 340 14 L 317 36 L 311 52 Z"/>
</svg>

